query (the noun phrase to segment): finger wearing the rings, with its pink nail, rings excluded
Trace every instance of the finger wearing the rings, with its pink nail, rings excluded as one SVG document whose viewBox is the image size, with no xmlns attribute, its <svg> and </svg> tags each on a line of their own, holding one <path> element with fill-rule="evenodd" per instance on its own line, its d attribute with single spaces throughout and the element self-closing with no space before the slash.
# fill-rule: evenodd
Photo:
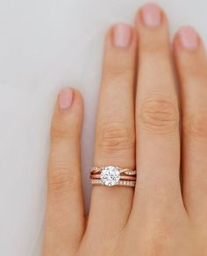
<svg viewBox="0 0 207 256">
<path fill-rule="evenodd" d="M 96 117 L 95 165 L 135 168 L 134 70 L 136 32 L 114 26 L 107 34 L 103 81 Z M 123 228 L 132 207 L 132 187 L 94 186 L 89 223 L 102 235 Z"/>
</svg>

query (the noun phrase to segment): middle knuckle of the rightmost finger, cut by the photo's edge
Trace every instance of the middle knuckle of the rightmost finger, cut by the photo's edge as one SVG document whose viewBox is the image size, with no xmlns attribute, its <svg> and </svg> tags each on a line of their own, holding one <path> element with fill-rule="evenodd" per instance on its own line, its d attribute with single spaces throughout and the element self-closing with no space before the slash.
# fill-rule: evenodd
<svg viewBox="0 0 207 256">
<path fill-rule="evenodd" d="M 207 113 L 191 114 L 183 121 L 183 130 L 193 138 L 207 137 Z"/>
</svg>

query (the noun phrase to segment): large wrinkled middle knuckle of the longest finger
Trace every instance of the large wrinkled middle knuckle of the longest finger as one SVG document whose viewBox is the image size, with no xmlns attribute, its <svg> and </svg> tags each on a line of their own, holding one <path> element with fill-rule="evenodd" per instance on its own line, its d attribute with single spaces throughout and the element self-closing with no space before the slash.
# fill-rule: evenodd
<svg viewBox="0 0 207 256">
<path fill-rule="evenodd" d="M 144 128 L 154 133 L 170 133 L 178 127 L 179 110 L 171 99 L 146 99 L 140 105 L 139 120 Z"/>
</svg>

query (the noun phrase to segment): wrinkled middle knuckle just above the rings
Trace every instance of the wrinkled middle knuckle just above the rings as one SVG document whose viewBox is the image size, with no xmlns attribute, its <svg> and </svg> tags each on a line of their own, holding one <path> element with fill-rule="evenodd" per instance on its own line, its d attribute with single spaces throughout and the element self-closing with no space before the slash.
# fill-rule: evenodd
<svg viewBox="0 0 207 256">
<path fill-rule="evenodd" d="M 97 145 L 105 151 L 132 149 L 135 143 L 133 128 L 122 122 L 105 123 L 98 128 Z"/>
</svg>

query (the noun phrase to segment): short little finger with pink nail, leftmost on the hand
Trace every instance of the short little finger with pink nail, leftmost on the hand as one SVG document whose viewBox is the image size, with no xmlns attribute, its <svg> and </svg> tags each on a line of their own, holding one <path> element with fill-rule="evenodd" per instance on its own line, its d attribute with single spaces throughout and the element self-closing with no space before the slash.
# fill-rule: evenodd
<svg viewBox="0 0 207 256">
<path fill-rule="evenodd" d="M 82 97 L 63 89 L 51 129 L 44 256 L 72 255 L 82 238 L 81 129 Z"/>
</svg>

